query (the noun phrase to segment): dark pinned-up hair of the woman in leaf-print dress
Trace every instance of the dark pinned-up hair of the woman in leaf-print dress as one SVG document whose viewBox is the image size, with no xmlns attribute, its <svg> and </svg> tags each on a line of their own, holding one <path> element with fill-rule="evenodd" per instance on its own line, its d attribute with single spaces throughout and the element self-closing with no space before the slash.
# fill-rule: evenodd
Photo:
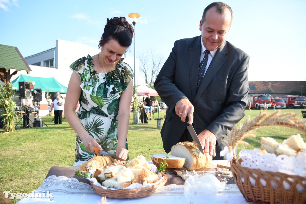
<svg viewBox="0 0 306 204">
<path fill-rule="evenodd" d="M 107 23 L 104 27 L 99 48 L 101 48 L 109 40 L 116 40 L 120 46 L 129 47 L 132 44 L 134 29 L 125 17 L 113 17 L 106 19 Z"/>
</svg>

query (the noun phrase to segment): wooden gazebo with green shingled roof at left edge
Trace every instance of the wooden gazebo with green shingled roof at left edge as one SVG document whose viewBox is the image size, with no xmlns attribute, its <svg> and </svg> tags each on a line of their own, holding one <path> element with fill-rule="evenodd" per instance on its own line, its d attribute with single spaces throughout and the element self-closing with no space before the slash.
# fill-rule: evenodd
<svg viewBox="0 0 306 204">
<path fill-rule="evenodd" d="M 15 70 L 13 73 L 11 69 Z M 0 80 L 8 83 L 11 77 L 20 70 L 30 72 L 31 68 L 22 57 L 17 47 L 0 44 Z"/>
</svg>

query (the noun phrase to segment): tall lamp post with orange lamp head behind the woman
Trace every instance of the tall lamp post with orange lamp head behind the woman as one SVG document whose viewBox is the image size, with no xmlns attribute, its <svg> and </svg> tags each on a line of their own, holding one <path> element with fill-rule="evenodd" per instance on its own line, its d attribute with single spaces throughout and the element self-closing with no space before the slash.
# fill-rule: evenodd
<svg viewBox="0 0 306 204">
<path fill-rule="evenodd" d="M 133 19 L 133 25 L 134 25 L 134 88 L 133 88 L 133 97 L 134 97 L 134 109 L 133 109 L 133 113 L 134 113 L 134 124 L 137 124 L 139 121 L 139 112 L 138 112 L 138 98 L 137 98 L 137 88 L 136 88 L 136 63 L 135 63 L 135 25 L 136 25 L 136 19 L 140 17 L 140 15 L 138 13 L 130 13 L 129 17 Z"/>
</svg>

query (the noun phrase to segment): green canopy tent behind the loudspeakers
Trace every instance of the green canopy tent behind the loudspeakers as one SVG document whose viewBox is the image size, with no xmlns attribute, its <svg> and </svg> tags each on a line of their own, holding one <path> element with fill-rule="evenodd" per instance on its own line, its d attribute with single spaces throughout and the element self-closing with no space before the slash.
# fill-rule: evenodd
<svg viewBox="0 0 306 204">
<path fill-rule="evenodd" d="M 59 83 L 54 77 L 43 78 L 37 76 L 27 76 L 27 75 L 19 75 L 16 79 L 12 81 L 13 89 L 19 90 L 19 82 L 27 82 L 34 81 L 35 86 L 34 89 L 41 89 L 42 91 L 49 91 L 49 93 L 60 92 L 61 94 L 65 94 L 67 92 L 67 87 Z"/>
</svg>

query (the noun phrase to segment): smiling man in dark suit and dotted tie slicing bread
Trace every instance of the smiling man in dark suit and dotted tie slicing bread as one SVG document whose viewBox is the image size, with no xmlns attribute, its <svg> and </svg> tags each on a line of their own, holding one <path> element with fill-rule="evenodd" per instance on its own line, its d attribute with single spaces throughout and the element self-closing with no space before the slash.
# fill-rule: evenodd
<svg viewBox="0 0 306 204">
<path fill-rule="evenodd" d="M 161 130 L 167 153 L 177 142 L 193 141 L 188 123 L 205 152 L 215 160 L 226 159 L 220 156 L 222 139 L 244 117 L 249 91 L 249 56 L 225 40 L 232 18 L 225 3 L 207 6 L 201 35 L 175 41 L 157 76 L 155 90 L 168 106 Z"/>
</svg>

